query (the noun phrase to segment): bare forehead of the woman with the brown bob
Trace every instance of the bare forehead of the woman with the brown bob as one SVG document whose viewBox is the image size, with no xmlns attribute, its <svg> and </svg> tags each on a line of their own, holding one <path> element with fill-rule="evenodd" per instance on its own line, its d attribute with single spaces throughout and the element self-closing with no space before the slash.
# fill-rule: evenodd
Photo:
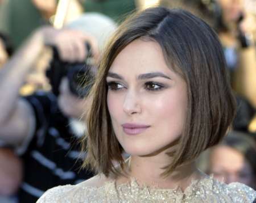
<svg viewBox="0 0 256 203">
<path fill-rule="evenodd" d="M 162 48 L 156 41 L 137 39 L 127 45 L 115 57 L 109 71 L 143 73 L 148 71 L 163 71 L 170 73 Z"/>
</svg>

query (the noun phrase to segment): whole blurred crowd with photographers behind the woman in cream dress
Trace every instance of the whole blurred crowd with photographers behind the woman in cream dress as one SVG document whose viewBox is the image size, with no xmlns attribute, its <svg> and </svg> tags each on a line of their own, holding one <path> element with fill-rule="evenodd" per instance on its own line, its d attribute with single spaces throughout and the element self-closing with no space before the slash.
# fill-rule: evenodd
<svg viewBox="0 0 256 203">
<path fill-rule="evenodd" d="M 93 176 L 79 141 L 101 52 L 127 15 L 154 5 L 189 10 L 218 33 L 237 114 L 198 164 L 256 189 L 255 0 L 0 0 L 1 203 Z"/>
</svg>

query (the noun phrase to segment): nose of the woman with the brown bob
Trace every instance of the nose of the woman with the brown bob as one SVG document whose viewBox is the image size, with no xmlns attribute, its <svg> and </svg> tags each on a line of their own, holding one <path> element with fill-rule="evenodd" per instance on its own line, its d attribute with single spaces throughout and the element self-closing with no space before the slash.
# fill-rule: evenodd
<svg viewBox="0 0 256 203">
<path fill-rule="evenodd" d="M 141 113 L 140 99 L 137 93 L 133 90 L 127 91 L 123 101 L 123 111 L 128 115 Z"/>
</svg>

